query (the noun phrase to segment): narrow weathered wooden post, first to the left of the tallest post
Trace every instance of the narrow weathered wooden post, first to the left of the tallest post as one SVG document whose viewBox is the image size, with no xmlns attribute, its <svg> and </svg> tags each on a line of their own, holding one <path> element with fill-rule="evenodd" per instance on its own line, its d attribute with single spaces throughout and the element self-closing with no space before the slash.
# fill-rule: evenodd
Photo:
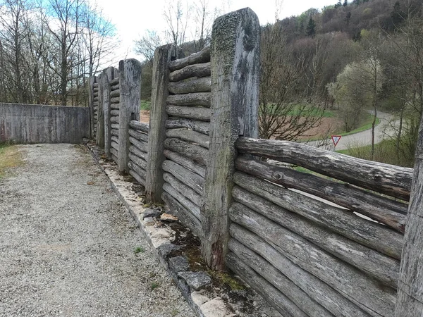
<svg viewBox="0 0 423 317">
<path fill-rule="evenodd" d="M 166 99 L 168 97 L 169 63 L 182 57 L 174 44 L 160 46 L 154 51 L 152 77 L 152 109 L 149 118 L 148 161 L 145 181 L 147 203 L 161 203 L 163 193 L 164 139 L 166 139 Z"/>
</svg>

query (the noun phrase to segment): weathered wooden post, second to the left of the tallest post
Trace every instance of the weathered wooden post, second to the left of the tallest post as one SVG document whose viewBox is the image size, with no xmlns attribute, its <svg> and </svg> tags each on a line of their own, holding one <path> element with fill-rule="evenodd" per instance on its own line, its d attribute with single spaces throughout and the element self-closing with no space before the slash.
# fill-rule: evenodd
<svg viewBox="0 0 423 317">
<path fill-rule="evenodd" d="M 119 62 L 119 173 L 129 173 L 129 123 L 140 120 L 141 63 L 134 58 Z"/>
</svg>

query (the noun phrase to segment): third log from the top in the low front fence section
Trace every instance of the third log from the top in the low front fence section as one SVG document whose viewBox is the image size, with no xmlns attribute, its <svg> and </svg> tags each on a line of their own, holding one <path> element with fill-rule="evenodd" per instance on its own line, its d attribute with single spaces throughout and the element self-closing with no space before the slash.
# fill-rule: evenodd
<svg viewBox="0 0 423 317">
<path fill-rule="evenodd" d="M 313 223 L 348 237 L 383 254 L 401 259 L 403 235 L 379 223 L 356 216 L 345 209 L 336 208 L 322 201 L 290 191 L 266 180 L 236 172 L 233 181 L 238 186 L 262 197 L 285 210 L 297 213 Z M 279 216 L 274 217 L 278 221 Z M 398 266 L 399 268 L 399 266 Z"/>
</svg>

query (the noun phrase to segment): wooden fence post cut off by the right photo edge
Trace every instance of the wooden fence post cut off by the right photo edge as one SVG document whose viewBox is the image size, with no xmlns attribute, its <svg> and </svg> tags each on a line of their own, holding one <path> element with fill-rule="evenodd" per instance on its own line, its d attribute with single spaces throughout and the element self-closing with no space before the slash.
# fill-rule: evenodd
<svg viewBox="0 0 423 317">
<path fill-rule="evenodd" d="M 423 316 L 423 118 L 415 159 L 398 281 L 396 317 Z"/>
</svg>

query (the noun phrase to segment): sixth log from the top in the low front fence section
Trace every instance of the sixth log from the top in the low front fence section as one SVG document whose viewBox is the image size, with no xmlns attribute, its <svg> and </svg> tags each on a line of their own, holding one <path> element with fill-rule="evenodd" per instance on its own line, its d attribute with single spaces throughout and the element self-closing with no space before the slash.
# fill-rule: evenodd
<svg viewBox="0 0 423 317">
<path fill-rule="evenodd" d="M 295 285 L 306 292 L 309 297 L 321 304 L 321 306 L 324 306 L 333 315 L 369 317 L 368 313 L 365 313 L 357 305 L 353 304 L 353 302 L 343 297 L 340 292 L 333 290 L 325 282 L 322 282 L 319 278 L 297 266 L 258 235 L 236 223 L 231 224 L 230 232 L 233 238 L 260 256 L 263 256 L 264 259 L 281 271 L 283 275 L 286 275 Z"/>
</svg>

